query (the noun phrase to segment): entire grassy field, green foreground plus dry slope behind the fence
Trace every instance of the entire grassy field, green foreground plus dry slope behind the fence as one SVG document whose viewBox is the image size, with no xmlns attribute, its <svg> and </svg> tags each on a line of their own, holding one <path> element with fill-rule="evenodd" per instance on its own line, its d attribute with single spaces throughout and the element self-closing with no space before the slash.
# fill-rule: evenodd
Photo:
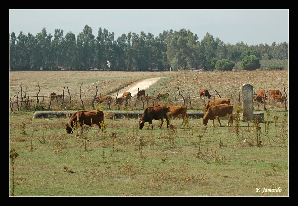
<svg viewBox="0 0 298 206">
<path fill-rule="evenodd" d="M 36 72 L 36 76 L 35 72 L 11 72 L 10 97 L 21 83 L 23 90 L 28 87 L 28 94 L 36 94 L 37 81 L 41 93 L 48 95 L 53 88 L 61 89 L 61 83 L 70 76 L 63 71 L 63 77 L 62 73 L 43 72 Z M 51 77 L 44 80 L 43 74 Z M 100 84 L 91 83 L 99 81 L 96 75 L 100 75 L 104 94 L 109 89 L 117 90 L 123 82 L 168 76 L 148 92 L 159 88 L 160 93 L 171 93 L 162 104 L 174 104 L 179 86 L 184 97 L 190 93 L 192 107 L 199 110 L 204 106 L 204 100 L 197 96 L 201 87 L 212 94 L 216 89 L 222 97 L 232 94 L 234 108 L 238 103 L 238 82 L 239 87 L 249 83 L 256 90 L 279 89 L 282 94 L 284 83 L 289 95 L 287 71 L 123 72 L 115 77 L 116 74 L 77 72 L 64 84 L 77 91 L 84 80 L 84 92 L 92 90 L 95 94 L 93 87 Z M 254 77 L 257 75 L 266 78 L 261 82 Z M 176 97 L 177 104 L 181 104 L 182 100 Z M 77 104 L 79 107 L 79 101 Z M 165 125 L 158 129 L 159 121 L 153 121 L 153 130 L 146 126 L 139 130 L 136 119 L 105 119 L 106 132 L 98 133 L 97 126 L 93 126 L 86 127 L 78 136 L 66 135 L 63 125 L 69 118 L 33 119 L 34 111 L 14 109 L 15 113 L 9 114 L 9 149 L 15 149 L 19 156 L 15 159 L 14 175 L 10 161 L 9 195 L 13 192 L 15 196 L 288 196 L 288 112 L 281 103 L 276 103 L 276 111 L 271 102 L 270 105 L 268 113 L 260 106 L 265 121 L 270 123 L 268 130 L 267 125 L 259 124 L 259 136 L 252 122 L 240 121 L 237 129 L 236 121 L 232 127 L 212 127 L 211 121 L 204 127 L 200 119 L 189 119 L 188 126 L 180 126 L 181 118 L 171 120 L 174 125 L 171 129 Z M 258 108 L 256 104 L 254 108 Z M 55 105 L 52 109 L 60 110 Z M 129 109 L 135 108 L 130 104 Z M 227 120 L 221 122 L 227 124 Z M 259 192 L 256 188 L 260 188 Z M 269 191 L 274 188 L 279 191 Z"/>
</svg>

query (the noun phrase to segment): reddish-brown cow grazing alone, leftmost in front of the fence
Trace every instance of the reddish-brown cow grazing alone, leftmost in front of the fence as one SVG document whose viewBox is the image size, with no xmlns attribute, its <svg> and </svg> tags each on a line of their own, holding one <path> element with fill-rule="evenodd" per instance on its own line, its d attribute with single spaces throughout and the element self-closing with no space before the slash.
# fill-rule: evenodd
<svg viewBox="0 0 298 206">
<path fill-rule="evenodd" d="M 83 124 L 92 126 L 92 124 L 98 125 L 98 131 L 100 131 L 100 123 L 103 121 L 103 111 L 94 110 L 94 111 L 79 111 L 75 112 L 71 118 L 70 121 L 65 125 L 66 134 L 73 133 L 74 130 L 74 123 L 73 121 L 79 121 L 81 126 L 83 127 Z"/>
</svg>

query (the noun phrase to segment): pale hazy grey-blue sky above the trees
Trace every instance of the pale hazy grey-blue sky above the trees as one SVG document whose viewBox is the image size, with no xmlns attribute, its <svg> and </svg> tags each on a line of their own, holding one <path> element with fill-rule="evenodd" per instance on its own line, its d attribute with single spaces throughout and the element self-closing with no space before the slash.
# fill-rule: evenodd
<svg viewBox="0 0 298 206">
<path fill-rule="evenodd" d="M 209 32 L 215 39 L 235 44 L 243 41 L 248 45 L 289 42 L 289 10 L 199 10 L 199 9 L 158 9 L 158 10 L 41 10 L 10 9 L 9 33 L 16 36 L 36 35 L 43 27 L 47 33 L 54 34 L 62 29 L 64 37 L 68 32 L 76 35 L 89 25 L 95 38 L 99 27 L 114 32 L 117 40 L 121 34 L 144 31 L 154 34 L 163 30 L 190 30 L 197 34 L 199 41 Z"/>
</svg>

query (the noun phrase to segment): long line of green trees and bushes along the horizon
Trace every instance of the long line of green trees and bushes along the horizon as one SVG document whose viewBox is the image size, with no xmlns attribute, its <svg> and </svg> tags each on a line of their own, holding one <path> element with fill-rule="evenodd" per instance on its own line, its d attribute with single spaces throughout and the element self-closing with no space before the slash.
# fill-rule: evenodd
<svg viewBox="0 0 298 206">
<path fill-rule="evenodd" d="M 100 27 L 95 38 L 88 25 L 77 37 L 72 32 L 64 36 L 62 29 L 56 29 L 53 35 L 45 28 L 35 36 L 21 31 L 16 37 L 12 32 L 9 34 L 9 69 L 164 71 L 172 67 L 177 71 L 194 68 L 250 70 L 269 66 L 288 69 L 289 44 L 286 42 L 249 46 L 241 41 L 232 45 L 214 39 L 208 32 L 198 41 L 198 35 L 186 29 L 164 30 L 156 37 L 141 31 L 140 35 L 128 32 L 114 38 L 114 32 Z M 262 62 L 265 63 L 261 65 Z"/>
</svg>

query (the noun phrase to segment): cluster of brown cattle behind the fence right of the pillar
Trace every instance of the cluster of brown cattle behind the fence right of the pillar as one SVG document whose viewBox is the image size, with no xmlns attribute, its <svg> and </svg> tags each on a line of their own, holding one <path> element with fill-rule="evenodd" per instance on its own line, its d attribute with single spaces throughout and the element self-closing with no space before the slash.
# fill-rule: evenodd
<svg viewBox="0 0 298 206">
<path fill-rule="evenodd" d="M 264 103 L 264 100 L 274 100 L 276 102 L 284 102 L 285 96 L 279 90 L 270 89 L 267 94 L 264 89 L 259 89 L 257 94 L 254 95 L 254 101 Z"/>
</svg>

